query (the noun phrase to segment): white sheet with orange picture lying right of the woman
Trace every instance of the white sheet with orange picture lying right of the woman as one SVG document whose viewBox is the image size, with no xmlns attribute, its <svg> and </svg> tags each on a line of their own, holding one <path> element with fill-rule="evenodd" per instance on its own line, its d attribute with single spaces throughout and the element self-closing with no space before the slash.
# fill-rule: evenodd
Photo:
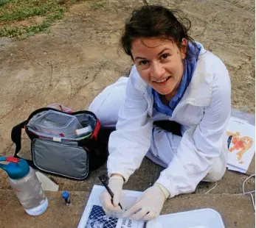
<svg viewBox="0 0 256 228">
<path fill-rule="evenodd" d="M 227 135 L 232 135 L 227 168 L 246 173 L 255 154 L 255 126 L 240 118 L 231 117 Z"/>
</svg>

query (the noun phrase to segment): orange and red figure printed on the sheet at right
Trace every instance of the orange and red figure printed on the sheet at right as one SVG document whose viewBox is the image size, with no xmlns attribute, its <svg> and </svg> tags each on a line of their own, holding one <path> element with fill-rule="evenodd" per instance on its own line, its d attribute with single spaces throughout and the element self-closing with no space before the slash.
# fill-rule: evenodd
<svg viewBox="0 0 256 228">
<path fill-rule="evenodd" d="M 238 157 L 238 162 L 239 163 L 243 163 L 242 161 L 242 157 L 243 154 L 246 153 L 253 144 L 253 140 L 252 138 L 249 138 L 248 136 L 240 136 L 240 132 L 226 132 L 226 135 L 230 136 L 232 135 L 232 145 L 229 147 L 229 152 L 234 152 L 234 151 L 238 151 L 236 153 L 237 157 Z"/>
</svg>

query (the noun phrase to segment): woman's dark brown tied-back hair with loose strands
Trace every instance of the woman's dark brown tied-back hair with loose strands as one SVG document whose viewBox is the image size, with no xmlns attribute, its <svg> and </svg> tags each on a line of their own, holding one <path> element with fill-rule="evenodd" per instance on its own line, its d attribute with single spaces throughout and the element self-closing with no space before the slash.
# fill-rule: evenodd
<svg viewBox="0 0 256 228">
<path fill-rule="evenodd" d="M 177 17 L 176 17 L 177 15 Z M 178 10 L 168 10 L 160 5 L 145 5 L 134 10 L 131 18 L 125 23 L 125 31 L 122 34 L 120 45 L 132 60 L 131 45 L 136 38 L 165 38 L 173 40 L 181 49 L 182 39 L 186 39 L 193 46 L 195 41 L 188 35 L 191 22 L 187 18 L 182 18 L 184 23 L 178 19 Z M 195 49 L 198 51 L 198 49 Z M 186 59 L 189 60 L 193 54 L 186 50 Z"/>
</svg>

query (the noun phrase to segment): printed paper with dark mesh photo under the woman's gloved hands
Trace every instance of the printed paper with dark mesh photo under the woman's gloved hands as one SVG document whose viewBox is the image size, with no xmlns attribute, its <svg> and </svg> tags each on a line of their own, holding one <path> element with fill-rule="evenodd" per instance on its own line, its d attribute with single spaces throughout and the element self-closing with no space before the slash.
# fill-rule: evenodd
<svg viewBox="0 0 256 228">
<path fill-rule="evenodd" d="M 144 226 L 144 221 L 106 216 L 100 203 L 100 193 L 103 190 L 105 188 L 100 185 L 94 185 L 92 188 L 78 228 L 142 228 Z M 123 190 L 120 204 L 124 209 L 128 209 L 141 194 L 141 192 L 134 190 Z M 120 217 L 120 215 L 116 215 Z"/>
</svg>

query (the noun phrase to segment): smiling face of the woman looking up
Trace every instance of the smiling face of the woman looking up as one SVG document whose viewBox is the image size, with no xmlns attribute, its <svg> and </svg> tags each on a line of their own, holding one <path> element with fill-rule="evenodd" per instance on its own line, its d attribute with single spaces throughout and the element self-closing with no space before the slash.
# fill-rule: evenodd
<svg viewBox="0 0 256 228">
<path fill-rule="evenodd" d="M 168 95 L 179 87 L 183 74 L 183 62 L 187 40 L 179 49 L 175 42 L 162 38 L 137 38 L 131 45 L 131 54 L 139 75 L 148 85 L 162 95 Z"/>
</svg>

